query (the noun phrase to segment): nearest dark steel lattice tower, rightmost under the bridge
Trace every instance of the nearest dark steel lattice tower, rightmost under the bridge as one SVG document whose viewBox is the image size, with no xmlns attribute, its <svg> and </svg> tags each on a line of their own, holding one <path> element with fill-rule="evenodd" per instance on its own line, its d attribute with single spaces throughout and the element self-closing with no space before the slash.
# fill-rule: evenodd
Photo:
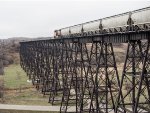
<svg viewBox="0 0 150 113">
<path fill-rule="evenodd" d="M 142 77 L 144 76 L 145 62 L 149 61 L 147 59 L 147 54 L 145 53 L 144 55 L 143 50 L 144 47 L 141 41 L 129 41 L 116 113 L 142 113 L 147 111 L 145 109 L 146 107 L 142 106 L 149 104 L 149 95 L 147 94 L 147 92 L 149 92 L 149 85 L 148 79 L 145 78 L 144 80 Z M 146 83 L 142 84 L 144 81 L 146 81 Z M 139 97 L 141 97 L 141 99 L 139 99 Z"/>
</svg>

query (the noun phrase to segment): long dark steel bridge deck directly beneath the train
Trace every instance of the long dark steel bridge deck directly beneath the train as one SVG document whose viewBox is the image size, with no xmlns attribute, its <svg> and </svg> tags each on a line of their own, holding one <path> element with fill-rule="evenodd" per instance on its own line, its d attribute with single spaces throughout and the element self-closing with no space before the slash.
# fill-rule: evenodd
<svg viewBox="0 0 150 113">
<path fill-rule="evenodd" d="M 46 40 L 33 40 L 33 41 L 22 41 L 20 43 L 32 43 L 32 42 L 80 42 L 80 43 L 92 43 L 96 41 L 104 41 L 110 43 L 127 43 L 129 40 L 143 40 L 150 38 L 150 31 L 141 32 L 125 32 L 125 33 L 109 33 L 99 35 L 87 35 L 77 36 L 70 38 L 49 38 Z"/>
</svg>

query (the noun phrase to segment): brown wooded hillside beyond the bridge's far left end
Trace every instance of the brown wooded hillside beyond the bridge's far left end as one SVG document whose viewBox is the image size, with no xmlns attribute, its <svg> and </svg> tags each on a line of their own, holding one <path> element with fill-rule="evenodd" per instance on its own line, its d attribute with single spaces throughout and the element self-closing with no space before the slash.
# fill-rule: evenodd
<svg viewBox="0 0 150 113">
<path fill-rule="evenodd" d="M 0 39 L 0 75 L 4 74 L 4 67 L 13 63 L 19 63 L 19 42 L 46 39 L 50 39 L 50 37 L 13 37 L 8 39 Z"/>
</svg>

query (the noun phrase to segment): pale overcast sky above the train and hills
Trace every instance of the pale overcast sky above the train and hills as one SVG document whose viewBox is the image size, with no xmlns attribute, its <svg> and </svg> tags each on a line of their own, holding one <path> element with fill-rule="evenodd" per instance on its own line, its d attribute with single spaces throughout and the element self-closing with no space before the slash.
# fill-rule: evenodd
<svg viewBox="0 0 150 113">
<path fill-rule="evenodd" d="M 50 37 L 55 29 L 148 6 L 148 0 L 0 0 L 0 39 Z"/>
</svg>

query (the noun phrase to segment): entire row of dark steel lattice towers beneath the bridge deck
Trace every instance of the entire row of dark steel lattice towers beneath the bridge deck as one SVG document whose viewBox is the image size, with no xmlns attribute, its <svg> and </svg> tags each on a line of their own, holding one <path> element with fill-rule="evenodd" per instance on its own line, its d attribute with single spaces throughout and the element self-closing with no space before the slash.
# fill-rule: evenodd
<svg viewBox="0 0 150 113">
<path fill-rule="evenodd" d="M 128 36 L 121 79 L 112 43 L 94 38 L 22 42 L 20 65 L 60 113 L 150 112 L 150 41 Z"/>
</svg>

